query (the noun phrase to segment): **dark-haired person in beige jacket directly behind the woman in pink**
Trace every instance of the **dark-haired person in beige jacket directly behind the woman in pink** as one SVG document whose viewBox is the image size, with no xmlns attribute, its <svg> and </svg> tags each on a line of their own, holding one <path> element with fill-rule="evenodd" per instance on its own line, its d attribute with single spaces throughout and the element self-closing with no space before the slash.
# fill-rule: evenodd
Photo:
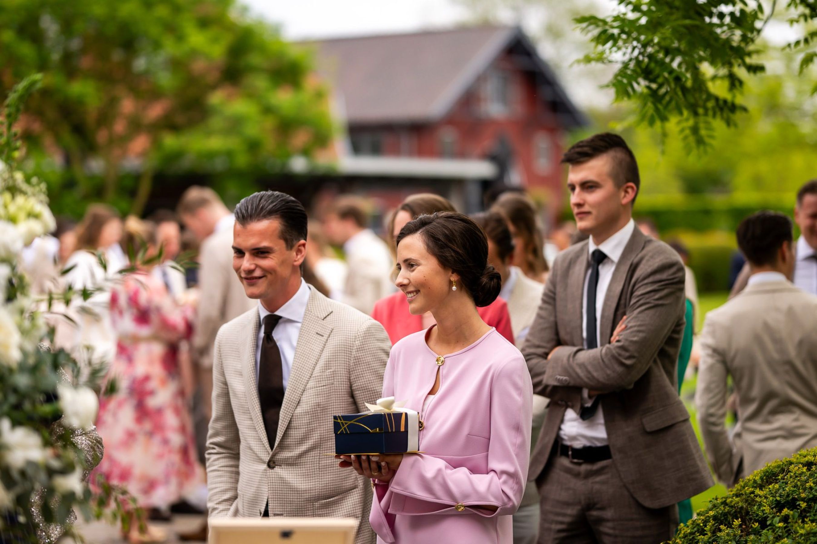
<svg viewBox="0 0 817 544">
<path fill-rule="evenodd" d="M 507 219 L 496 211 L 486 211 L 474 215 L 474 221 L 480 225 L 488 237 L 488 263 L 499 272 L 502 278 L 502 290 L 499 296 L 507 302 L 511 316 L 511 329 L 517 347 L 521 347 L 528 335 L 530 325 L 536 317 L 539 301 L 545 285 L 525 276 L 520 268 L 511 263 L 514 259 L 514 239 Z M 545 421 L 547 399 L 541 395 L 533 398 L 533 427 L 531 431 L 531 452 L 542 430 Z M 519 510 L 513 515 L 514 544 L 535 544 L 539 533 L 539 491 L 534 478 L 529 475 L 525 484 Z"/>
</svg>

